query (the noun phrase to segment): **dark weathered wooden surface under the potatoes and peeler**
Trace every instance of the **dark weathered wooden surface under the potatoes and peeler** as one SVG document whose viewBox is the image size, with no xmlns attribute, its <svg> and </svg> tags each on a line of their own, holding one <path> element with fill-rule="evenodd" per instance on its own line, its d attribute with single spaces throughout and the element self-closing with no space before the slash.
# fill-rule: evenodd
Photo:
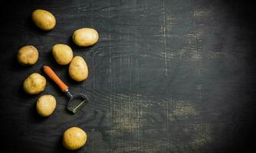
<svg viewBox="0 0 256 153">
<path fill-rule="evenodd" d="M 244 5 L 241 5 L 244 4 Z M 71 126 L 87 132 L 77 152 L 253 152 L 253 5 L 199 0 L 8 1 L 1 6 L 1 128 L 3 152 L 68 152 L 61 135 Z M 31 23 L 36 8 L 57 18 L 53 31 Z M 93 47 L 77 47 L 74 30 L 95 28 Z M 89 77 L 75 83 L 67 66 L 51 55 L 69 44 L 85 58 Z M 19 47 L 32 44 L 39 60 L 16 61 Z M 74 116 L 67 99 L 48 79 L 46 90 L 29 96 L 22 82 L 51 66 L 72 93 L 90 103 Z M 44 75 L 45 76 L 45 75 Z M 48 118 L 35 110 L 39 96 L 52 94 L 57 108 Z"/>
</svg>

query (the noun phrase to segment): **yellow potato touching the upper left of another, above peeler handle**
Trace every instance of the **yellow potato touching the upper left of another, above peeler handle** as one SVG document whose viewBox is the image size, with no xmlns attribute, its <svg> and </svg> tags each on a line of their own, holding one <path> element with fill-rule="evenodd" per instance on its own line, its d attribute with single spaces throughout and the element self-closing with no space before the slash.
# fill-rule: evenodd
<svg viewBox="0 0 256 153">
<path fill-rule="evenodd" d="M 73 58 L 73 51 L 71 47 L 66 44 L 55 44 L 54 47 L 52 47 L 52 54 L 56 62 L 61 65 L 71 63 Z"/>
</svg>

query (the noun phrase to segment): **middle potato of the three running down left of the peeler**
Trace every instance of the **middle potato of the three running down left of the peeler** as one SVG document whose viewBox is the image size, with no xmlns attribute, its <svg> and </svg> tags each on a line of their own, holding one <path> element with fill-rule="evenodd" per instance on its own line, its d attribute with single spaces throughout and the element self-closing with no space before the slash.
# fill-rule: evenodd
<svg viewBox="0 0 256 153">
<path fill-rule="evenodd" d="M 44 91 L 46 80 L 39 73 L 32 73 L 23 82 L 23 89 L 26 93 L 34 95 Z"/>
</svg>

